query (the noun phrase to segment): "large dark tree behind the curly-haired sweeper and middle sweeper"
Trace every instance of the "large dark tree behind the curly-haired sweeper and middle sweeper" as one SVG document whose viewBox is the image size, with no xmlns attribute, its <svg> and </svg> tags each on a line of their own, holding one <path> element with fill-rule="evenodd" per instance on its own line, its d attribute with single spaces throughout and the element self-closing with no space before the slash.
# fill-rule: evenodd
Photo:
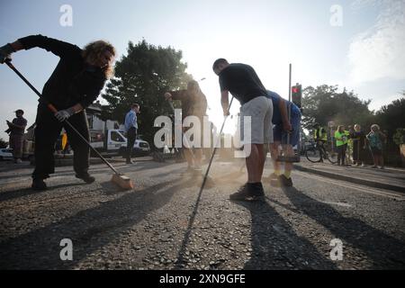
<svg viewBox="0 0 405 288">
<path fill-rule="evenodd" d="M 106 85 L 103 99 L 103 119 L 124 121 L 130 104 L 139 103 L 139 134 L 153 143 L 157 116 L 172 113 L 165 103 L 166 91 L 185 88 L 193 77 L 185 73 L 182 51 L 171 47 L 162 48 L 148 44 L 146 40 L 137 45 L 129 42 L 128 55 L 115 65 L 115 77 Z"/>
</svg>

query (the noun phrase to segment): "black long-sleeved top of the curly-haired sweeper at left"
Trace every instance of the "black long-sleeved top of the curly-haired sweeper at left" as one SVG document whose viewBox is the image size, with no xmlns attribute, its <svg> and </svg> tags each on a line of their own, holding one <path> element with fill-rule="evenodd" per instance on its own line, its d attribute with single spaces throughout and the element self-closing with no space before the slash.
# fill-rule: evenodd
<svg viewBox="0 0 405 288">
<path fill-rule="evenodd" d="M 106 81 L 103 70 L 86 65 L 83 50 L 76 45 L 42 35 L 24 37 L 19 41 L 24 49 L 39 47 L 60 58 L 42 90 L 42 96 L 58 110 L 76 103 L 86 108 L 100 94 Z"/>
</svg>

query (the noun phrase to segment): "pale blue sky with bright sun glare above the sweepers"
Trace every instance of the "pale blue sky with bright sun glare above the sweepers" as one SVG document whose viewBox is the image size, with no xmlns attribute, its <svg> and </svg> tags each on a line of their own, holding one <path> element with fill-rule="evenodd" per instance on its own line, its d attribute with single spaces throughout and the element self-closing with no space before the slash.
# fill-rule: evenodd
<svg viewBox="0 0 405 288">
<path fill-rule="evenodd" d="M 205 78 L 200 85 L 208 114 L 220 127 L 220 88 L 211 70 L 216 58 L 254 67 L 266 88 L 284 98 L 292 63 L 293 84 L 346 87 L 371 99 L 371 110 L 399 99 L 405 90 L 404 18 L 405 0 L 1 0 L 0 45 L 42 34 L 80 47 L 109 40 L 118 59 L 129 41 L 180 49 L 187 73 Z M 15 53 L 13 62 L 41 90 L 58 57 L 30 49 Z M 36 95 L 4 65 L 0 97 L 0 138 L 7 139 L 5 120 L 13 120 L 16 109 L 25 111 L 29 125 L 35 121 Z M 231 113 L 238 107 L 235 102 Z"/>
</svg>

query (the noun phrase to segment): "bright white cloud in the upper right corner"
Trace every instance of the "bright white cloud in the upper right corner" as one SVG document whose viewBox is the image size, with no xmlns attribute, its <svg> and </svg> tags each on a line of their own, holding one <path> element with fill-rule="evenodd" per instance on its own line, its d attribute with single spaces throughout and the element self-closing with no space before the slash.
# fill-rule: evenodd
<svg viewBox="0 0 405 288">
<path fill-rule="evenodd" d="M 355 83 L 380 78 L 405 79 L 405 1 L 359 0 L 353 9 L 376 6 L 381 10 L 373 27 L 355 36 L 348 59 Z"/>
</svg>

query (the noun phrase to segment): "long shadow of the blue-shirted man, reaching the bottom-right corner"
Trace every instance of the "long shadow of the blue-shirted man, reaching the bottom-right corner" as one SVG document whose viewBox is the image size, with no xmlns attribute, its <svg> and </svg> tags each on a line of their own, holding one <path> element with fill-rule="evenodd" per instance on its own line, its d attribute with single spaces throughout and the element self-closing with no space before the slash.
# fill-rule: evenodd
<svg viewBox="0 0 405 288">
<path fill-rule="evenodd" d="M 405 267 L 405 243 L 384 234 L 362 220 L 346 217 L 329 204 L 319 202 L 296 190 L 283 188 L 293 205 L 316 220 L 320 225 L 343 241 L 361 249 L 373 261 L 371 269 L 403 269 Z M 372 207 L 370 207 L 372 209 Z"/>
</svg>

